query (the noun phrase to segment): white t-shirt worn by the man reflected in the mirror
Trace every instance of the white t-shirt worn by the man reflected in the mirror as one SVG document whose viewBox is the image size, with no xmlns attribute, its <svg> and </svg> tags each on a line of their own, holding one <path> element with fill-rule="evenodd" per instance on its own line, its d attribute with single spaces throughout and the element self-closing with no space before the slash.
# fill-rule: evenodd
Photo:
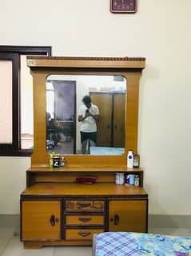
<svg viewBox="0 0 191 256">
<path fill-rule="evenodd" d="M 83 104 L 79 109 L 78 109 L 78 116 L 86 116 L 86 106 Z M 91 107 L 89 108 L 89 111 L 92 115 L 99 115 L 99 108 L 97 108 L 96 105 L 91 104 Z M 81 122 L 81 127 L 80 127 L 81 132 L 97 132 L 97 125 L 96 121 L 94 120 L 94 117 L 88 116 L 86 117 L 85 120 Z"/>
</svg>

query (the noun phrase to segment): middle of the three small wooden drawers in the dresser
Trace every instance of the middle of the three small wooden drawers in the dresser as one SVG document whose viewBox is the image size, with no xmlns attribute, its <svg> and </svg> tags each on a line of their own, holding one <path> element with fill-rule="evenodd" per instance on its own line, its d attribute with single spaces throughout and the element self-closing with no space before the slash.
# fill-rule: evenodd
<svg viewBox="0 0 191 256">
<path fill-rule="evenodd" d="M 66 225 L 103 225 L 104 217 L 99 215 L 66 216 Z"/>
</svg>

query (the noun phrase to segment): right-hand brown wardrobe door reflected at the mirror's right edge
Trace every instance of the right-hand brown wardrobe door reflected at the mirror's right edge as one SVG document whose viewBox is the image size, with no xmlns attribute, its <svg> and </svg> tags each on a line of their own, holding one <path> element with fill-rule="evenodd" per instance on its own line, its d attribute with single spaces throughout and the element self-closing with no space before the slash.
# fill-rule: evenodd
<svg viewBox="0 0 191 256">
<path fill-rule="evenodd" d="M 125 93 L 113 95 L 113 147 L 125 147 Z"/>
</svg>

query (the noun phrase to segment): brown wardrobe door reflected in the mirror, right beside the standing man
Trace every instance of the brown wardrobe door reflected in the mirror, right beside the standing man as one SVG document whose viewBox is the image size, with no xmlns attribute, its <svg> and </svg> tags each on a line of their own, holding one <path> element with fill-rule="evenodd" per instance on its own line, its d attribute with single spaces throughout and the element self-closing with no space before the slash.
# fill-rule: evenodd
<svg viewBox="0 0 191 256">
<path fill-rule="evenodd" d="M 97 146 L 111 146 L 112 132 L 112 94 L 90 93 L 92 103 L 97 105 L 100 111 L 100 119 L 97 122 Z"/>
</svg>

